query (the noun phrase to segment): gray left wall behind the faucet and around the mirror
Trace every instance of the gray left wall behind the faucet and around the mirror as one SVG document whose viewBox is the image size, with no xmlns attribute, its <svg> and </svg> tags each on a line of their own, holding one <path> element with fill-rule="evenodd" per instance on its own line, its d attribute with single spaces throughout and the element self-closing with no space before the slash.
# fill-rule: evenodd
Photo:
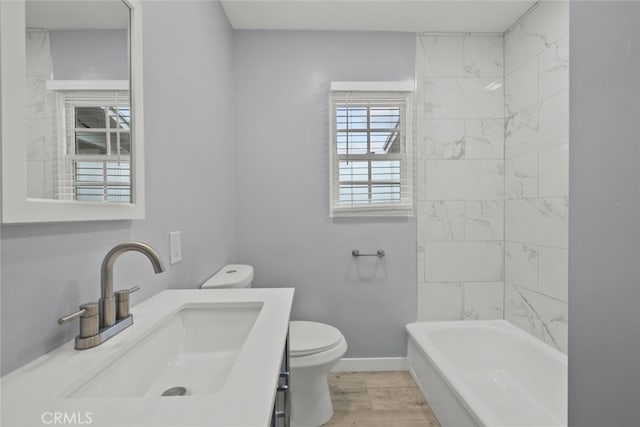
<svg viewBox="0 0 640 427">
<path fill-rule="evenodd" d="M 144 3 L 144 221 L 2 226 L 2 373 L 77 334 L 56 319 L 96 300 L 100 263 L 115 244 L 143 240 L 167 272 L 139 254 L 116 263 L 116 288 L 140 284 L 138 303 L 194 288 L 234 254 L 232 31 L 217 2 Z M 182 231 L 183 261 L 169 266 Z"/>
</svg>

